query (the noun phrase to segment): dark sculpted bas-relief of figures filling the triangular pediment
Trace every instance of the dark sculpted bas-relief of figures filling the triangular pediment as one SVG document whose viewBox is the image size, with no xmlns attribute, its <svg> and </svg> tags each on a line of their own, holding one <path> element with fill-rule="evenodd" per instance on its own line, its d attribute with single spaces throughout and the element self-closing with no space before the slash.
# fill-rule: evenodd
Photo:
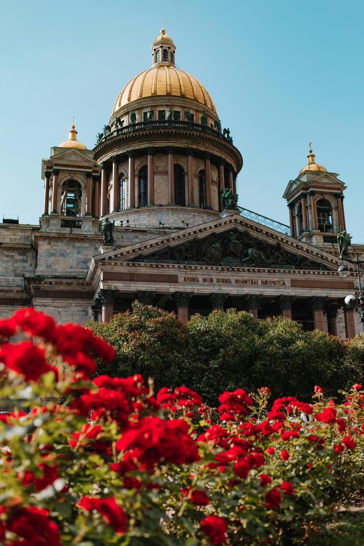
<svg viewBox="0 0 364 546">
<path fill-rule="evenodd" d="M 211 233 L 204 239 L 194 238 L 180 245 L 164 246 L 134 259 L 138 262 L 325 269 L 304 256 L 286 251 L 279 242 L 270 244 L 236 227 L 227 232 Z"/>
</svg>

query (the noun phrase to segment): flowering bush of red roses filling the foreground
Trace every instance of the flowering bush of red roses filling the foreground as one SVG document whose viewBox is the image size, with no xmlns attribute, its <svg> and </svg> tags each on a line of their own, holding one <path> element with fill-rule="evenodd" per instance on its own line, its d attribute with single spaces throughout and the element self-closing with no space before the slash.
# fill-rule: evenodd
<svg viewBox="0 0 364 546">
<path fill-rule="evenodd" d="M 360 384 L 342 403 L 239 388 L 216 412 L 183 385 L 94 377 L 113 357 L 32 308 L 0 320 L 1 543 L 300 543 L 362 488 Z"/>
</svg>

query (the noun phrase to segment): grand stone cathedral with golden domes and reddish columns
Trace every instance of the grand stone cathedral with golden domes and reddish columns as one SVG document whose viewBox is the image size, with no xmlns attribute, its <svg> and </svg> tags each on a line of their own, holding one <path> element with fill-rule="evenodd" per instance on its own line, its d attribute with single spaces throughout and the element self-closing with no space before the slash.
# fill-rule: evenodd
<svg viewBox="0 0 364 546">
<path fill-rule="evenodd" d="M 0 316 L 33 306 L 84 324 L 138 299 L 183 322 L 234 307 L 354 337 L 359 313 L 344 298 L 356 272 L 337 273 L 346 231 L 338 174 L 315 161 L 310 143 L 283 194 L 287 224 L 238 207 L 243 158 L 210 94 L 177 68 L 164 28 L 151 52 L 93 150 L 72 124 L 42 160 L 39 225 L 0 224 Z M 355 253 L 364 245 L 351 245 Z"/>
</svg>

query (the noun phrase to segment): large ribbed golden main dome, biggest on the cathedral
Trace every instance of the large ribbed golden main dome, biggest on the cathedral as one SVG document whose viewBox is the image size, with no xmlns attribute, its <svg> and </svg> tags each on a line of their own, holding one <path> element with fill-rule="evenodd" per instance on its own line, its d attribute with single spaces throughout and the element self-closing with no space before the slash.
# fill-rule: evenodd
<svg viewBox="0 0 364 546">
<path fill-rule="evenodd" d="M 164 34 L 166 36 L 166 34 Z M 161 35 L 163 37 L 163 34 Z M 162 39 L 162 38 L 161 38 Z M 216 108 L 206 88 L 191 74 L 171 63 L 154 64 L 128 81 L 118 95 L 112 113 L 133 100 L 146 97 L 183 97 L 196 100 L 216 114 Z"/>
</svg>

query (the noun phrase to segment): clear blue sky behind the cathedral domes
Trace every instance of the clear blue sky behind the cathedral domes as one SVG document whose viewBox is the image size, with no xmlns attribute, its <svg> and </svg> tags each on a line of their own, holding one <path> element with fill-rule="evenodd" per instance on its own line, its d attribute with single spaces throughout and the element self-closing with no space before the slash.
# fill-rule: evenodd
<svg viewBox="0 0 364 546">
<path fill-rule="evenodd" d="M 151 64 L 164 17 L 176 64 L 210 92 L 244 165 L 240 205 L 289 223 L 282 195 L 316 161 L 348 186 L 353 242 L 362 228 L 361 0 L 78 0 L 2 4 L 0 221 L 43 212 L 41 159 L 68 138 L 93 147 L 117 94 Z"/>
</svg>

